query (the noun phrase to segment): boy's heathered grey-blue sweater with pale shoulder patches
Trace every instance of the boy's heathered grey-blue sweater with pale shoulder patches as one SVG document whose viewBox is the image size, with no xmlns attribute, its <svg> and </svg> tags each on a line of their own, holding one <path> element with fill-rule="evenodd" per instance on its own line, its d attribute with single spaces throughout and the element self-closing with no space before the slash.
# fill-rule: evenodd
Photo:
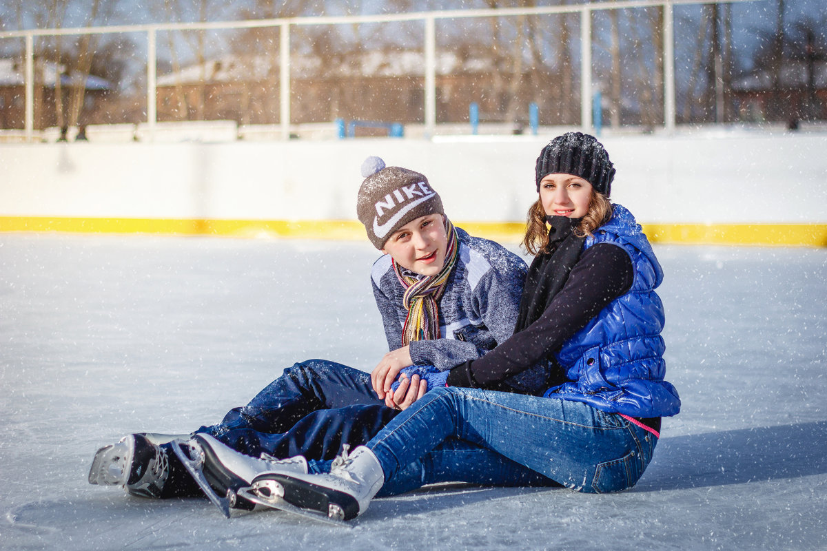
<svg viewBox="0 0 827 551">
<path fill-rule="evenodd" d="M 415 364 L 440 371 L 482 357 L 514 333 L 525 281 L 526 264 L 502 245 L 471 237 L 460 228 L 457 239 L 457 265 L 439 301 L 441 338 L 410 343 Z M 402 306 L 404 288 L 389 254 L 376 260 L 370 278 L 388 347 L 398 349 L 408 311 Z"/>
</svg>

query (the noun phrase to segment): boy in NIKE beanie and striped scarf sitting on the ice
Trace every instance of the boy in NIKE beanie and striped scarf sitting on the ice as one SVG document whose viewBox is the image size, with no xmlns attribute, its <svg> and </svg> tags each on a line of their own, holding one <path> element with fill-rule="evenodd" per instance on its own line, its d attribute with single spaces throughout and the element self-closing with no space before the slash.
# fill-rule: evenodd
<svg viewBox="0 0 827 551">
<path fill-rule="evenodd" d="M 356 210 L 370 242 L 385 253 L 373 266 L 371 283 L 391 350 L 374 369 L 374 379 L 412 364 L 447 370 L 507 339 L 518 314 L 523 261 L 455 228 L 423 174 L 385 167 L 375 157 L 366 159 L 362 171 L 366 179 Z M 525 387 L 526 380 L 508 383 L 523 392 L 538 388 L 537 382 Z M 374 387 L 371 375 L 355 368 L 318 359 L 296 363 L 246 406 L 195 433 L 255 458 L 332 459 L 343 444 L 366 443 L 399 409 L 422 397 L 426 383 L 406 378 L 395 393 L 380 397 Z M 198 487 L 170 454 L 174 438 L 127 435 L 99 449 L 89 482 L 124 486 L 137 496 L 197 495 Z"/>
</svg>

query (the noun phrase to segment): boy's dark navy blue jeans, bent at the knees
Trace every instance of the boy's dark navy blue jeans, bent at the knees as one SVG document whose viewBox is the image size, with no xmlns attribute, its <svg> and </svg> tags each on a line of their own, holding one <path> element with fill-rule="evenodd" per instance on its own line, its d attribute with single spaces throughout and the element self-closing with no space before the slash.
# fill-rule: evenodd
<svg viewBox="0 0 827 551">
<path fill-rule="evenodd" d="M 399 413 L 373 391 L 370 373 L 311 359 L 284 369 L 250 403 L 207 433 L 242 454 L 332 459 L 342 444 L 365 444 Z"/>
</svg>

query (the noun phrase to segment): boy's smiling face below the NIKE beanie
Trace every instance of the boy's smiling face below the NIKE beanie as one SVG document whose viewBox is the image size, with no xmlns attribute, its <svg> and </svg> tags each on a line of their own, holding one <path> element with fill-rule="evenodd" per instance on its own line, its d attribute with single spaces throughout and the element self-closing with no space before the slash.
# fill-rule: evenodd
<svg viewBox="0 0 827 551">
<path fill-rule="evenodd" d="M 445 264 L 448 236 L 441 214 L 420 216 L 394 231 L 382 252 L 397 264 L 423 276 L 433 276 Z"/>
</svg>

